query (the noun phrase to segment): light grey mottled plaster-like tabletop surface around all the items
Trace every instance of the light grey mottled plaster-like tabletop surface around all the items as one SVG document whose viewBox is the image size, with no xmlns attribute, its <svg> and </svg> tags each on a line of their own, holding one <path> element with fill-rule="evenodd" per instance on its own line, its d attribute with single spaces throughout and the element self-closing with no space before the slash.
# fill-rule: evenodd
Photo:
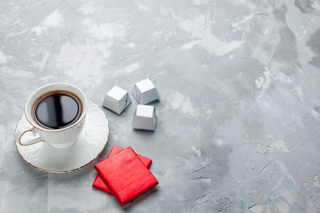
<svg viewBox="0 0 320 213">
<path fill-rule="evenodd" d="M 0 212 L 319 212 L 320 2 L 0 0 Z M 85 168 L 38 171 L 13 133 L 28 96 L 72 83 L 101 106 L 150 77 L 154 132 L 110 121 Z M 121 207 L 92 188 L 113 145 L 159 185 Z"/>
</svg>

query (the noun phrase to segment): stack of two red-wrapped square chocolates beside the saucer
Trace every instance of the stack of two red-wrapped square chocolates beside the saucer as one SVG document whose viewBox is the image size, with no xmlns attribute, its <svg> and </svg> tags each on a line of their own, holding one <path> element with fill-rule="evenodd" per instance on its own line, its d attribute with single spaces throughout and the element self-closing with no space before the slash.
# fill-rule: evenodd
<svg viewBox="0 0 320 213">
<path fill-rule="evenodd" d="M 151 159 L 137 155 L 131 147 L 113 146 L 109 156 L 95 165 L 99 175 L 93 187 L 115 195 L 124 205 L 158 184 L 149 171 L 151 163 Z"/>
</svg>

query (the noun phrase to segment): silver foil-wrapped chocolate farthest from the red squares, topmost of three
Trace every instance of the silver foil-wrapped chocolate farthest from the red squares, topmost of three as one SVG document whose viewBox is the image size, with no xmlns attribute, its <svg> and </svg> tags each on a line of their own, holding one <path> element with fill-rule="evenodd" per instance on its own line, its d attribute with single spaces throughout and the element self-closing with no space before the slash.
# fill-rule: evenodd
<svg viewBox="0 0 320 213">
<path fill-rule="evenodd" d="M 135 83 L 132 94 L 140 104 L 146 104 L 159 99 L 158 91 L 151 82 L 150 78 L 146 78 L 141 82 Z"/>
</svg>

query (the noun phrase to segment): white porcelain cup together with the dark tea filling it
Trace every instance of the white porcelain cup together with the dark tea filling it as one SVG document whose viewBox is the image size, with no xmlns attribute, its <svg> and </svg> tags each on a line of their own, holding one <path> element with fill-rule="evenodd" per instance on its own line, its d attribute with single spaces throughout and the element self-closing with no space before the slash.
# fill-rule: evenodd
<svg viewBox="0 0 320 213">
<path fill-rule="evenodd" d="M 78 87 L 67 83 L 44 85 L 26 103 L 25 114 L 32 127 L 17 129 L 15 141 L 22 146 L 44 141 L 55 148 L 70 147 L 79 138 L 87 108 L 88 100 Z M 22 142 L 27 131 L 32 131 L 35 138 Z"/>
</svg>

